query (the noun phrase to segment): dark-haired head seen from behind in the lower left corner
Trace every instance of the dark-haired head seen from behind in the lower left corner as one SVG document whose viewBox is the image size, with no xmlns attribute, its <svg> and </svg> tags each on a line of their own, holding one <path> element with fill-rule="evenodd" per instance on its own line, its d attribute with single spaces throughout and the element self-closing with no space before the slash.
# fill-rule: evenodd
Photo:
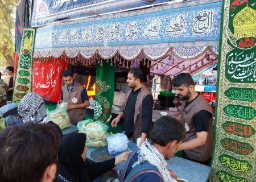
<svg viewBox="0 0 256 182">
<path fill-rule="evenodd" d="M 0 131 L 0 181 L 54 181 L 59 140 L 51 126 L 34 122 Z"/>
</svg>

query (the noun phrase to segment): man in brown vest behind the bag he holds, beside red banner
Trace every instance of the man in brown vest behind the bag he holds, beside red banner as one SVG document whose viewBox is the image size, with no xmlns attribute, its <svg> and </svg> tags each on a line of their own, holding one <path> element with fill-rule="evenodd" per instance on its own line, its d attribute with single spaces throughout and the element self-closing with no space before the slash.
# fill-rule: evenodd
<svg viewBox="0 0 256 182">
<path fill-rule="evenodd" d="M 86 107 L 90 106 L 84 86 L 74 81 L 73 72 L 66 69 L 63 73 L 65 85 L 61 88 L 61 100 L 68 103 L 68 116 L 71 123 L 76 124 L 85 119 Z"/>
</svg>

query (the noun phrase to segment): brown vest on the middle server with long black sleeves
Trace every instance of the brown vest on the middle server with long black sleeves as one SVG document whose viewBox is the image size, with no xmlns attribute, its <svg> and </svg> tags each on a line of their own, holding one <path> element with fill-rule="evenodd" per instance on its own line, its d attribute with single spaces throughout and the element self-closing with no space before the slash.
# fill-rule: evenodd
<svg viewBox="0 0 256 182">
<path fill-rule="evenodd" d="M 125 94 L 125 106 L 128 100 L 128 97 L 131 93 L 131 90 L 133 90 L 132 88 L 127 89 L 127 92 Z M 142 130 L 142 101 L 144 100 L 144 98 L 148 95 L 151 94 L 150 91 L 146 88 L 146 86 L 142 86 L 141 91 L 139 92 L 138 96 L 137 96 L 137 101 L 135 103 L 135 110 L 134 110 L 134 125 L 133 125 L 133 142 L 137 142 L 137 138 L 141 137 L 141 130 Z M 153 109 L 153 108 L 152 108 Z M 152 126 L 152 124 L 151 124 Z M 150 137 L 151 135 L 151 129 L 152 127 L 150 127 L 150 131 L 148 132 L 148 136 L 147 138 Z"/>
</svg>

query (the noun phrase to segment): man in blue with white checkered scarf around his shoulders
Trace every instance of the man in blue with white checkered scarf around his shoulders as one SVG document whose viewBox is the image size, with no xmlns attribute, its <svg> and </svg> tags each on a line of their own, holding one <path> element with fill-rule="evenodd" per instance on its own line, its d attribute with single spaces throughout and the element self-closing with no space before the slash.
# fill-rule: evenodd
<svg viewBox="0 0 256 182">
<path fill-rule="evenodd" d="M 175 155 L 185 137 L 184 126 L 177 119 L 163 116 L 152 129 L 150 142 L 144 142 L 127 159 L 125 171 L 119 173 L 121 181 L 175 182 L 177 176 L 167 168 L 167 161 Z"/>
</svg>

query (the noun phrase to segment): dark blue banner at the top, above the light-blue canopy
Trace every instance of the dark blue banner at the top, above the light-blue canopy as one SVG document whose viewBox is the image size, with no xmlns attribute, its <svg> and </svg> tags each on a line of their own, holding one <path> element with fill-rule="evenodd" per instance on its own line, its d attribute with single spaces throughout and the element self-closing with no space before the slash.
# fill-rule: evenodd
<svg viewBox="0 0 256 182">
<path fill-rule="evenodd" d="M 169 0 L 32 0 L 31 26 L 157 5 Z"/>
</svg>

